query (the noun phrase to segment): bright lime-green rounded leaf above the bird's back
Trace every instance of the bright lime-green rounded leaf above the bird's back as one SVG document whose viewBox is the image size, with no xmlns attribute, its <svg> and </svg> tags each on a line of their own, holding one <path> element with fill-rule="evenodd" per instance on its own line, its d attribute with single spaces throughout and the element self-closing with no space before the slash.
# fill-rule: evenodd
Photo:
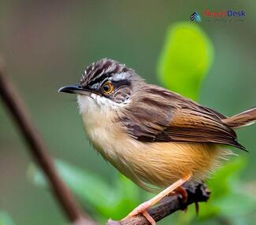
<svg viewBox="0 0 256 225">
<path fill-rule="evenodd" d="M 197 24 L 176 23 L 167 30 L 157 72 L 169 90 L 196 99 L 212 61 L 213 45 L 205 32 Z"/>
</svg>

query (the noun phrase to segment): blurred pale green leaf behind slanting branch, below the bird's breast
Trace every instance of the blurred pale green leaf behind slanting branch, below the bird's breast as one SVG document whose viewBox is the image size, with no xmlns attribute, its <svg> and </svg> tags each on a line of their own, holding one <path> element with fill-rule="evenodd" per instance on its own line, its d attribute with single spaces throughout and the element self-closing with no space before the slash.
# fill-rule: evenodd
<svg viewBox="0 0 256 225">
<path fill-rule="evenodd" d="M 111 216 L 120 219 L 138 204 L 138 187 L 130 180 L 119 176 L 117 183 L 110 186 L 104 179 L 93 172 L 81 170 L 62 160 L 55 160 L 61 179 L 76 194 L 79 200 L 91 211 L 104 218 Z M 28 176 L 32 182 L 46 187 L 46 180 L 42 174 L 31 164 L 28 168 Z"/>
</svg>

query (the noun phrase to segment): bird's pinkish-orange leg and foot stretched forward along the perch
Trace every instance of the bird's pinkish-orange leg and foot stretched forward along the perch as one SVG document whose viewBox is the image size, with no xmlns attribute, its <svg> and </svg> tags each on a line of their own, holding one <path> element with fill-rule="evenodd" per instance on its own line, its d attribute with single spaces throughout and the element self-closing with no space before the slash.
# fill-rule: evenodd
<svg viewBox="0 0 256 225">
<path fill-rule="evenodd" d="M 184 176 L 182 179 L 177 180 L 176 183 L 173 183 L 171 186 L 169 186 L 165 190 L 161 191 L 161 193 L 159 193 L 155 197 L 151 198 L 149 201 L 145 201 L 145 202 L 143 202 L 143 204 L 137 206 L 135 209 L 132 210 L 132 212 L 130 212 L 128 214 L 128 216 L 126 216 L 126 218 L 130 218 L 130 217 L 136 216 L 138 214 L 143 214 L 143 216 L 145 216 L 147 218 L 147 220 L 150 222 L 150 224 L 154 225 L 155 221 L 150 216 L 150 214 L 147 212 L 147 209 L 150 208 L 152 205 L 155 205 L 156 203 L 158 203 L 158 201 L 161 201 L 161 199 L 163 199 L 166 195 L 172 193 L 173 190 L 176 190 L 177 188 L 182 186 L 184 183 L 187 182 L 187 180 L 191 179 L 191 176 L 192 175 L 189 174 L 189 175 Z"/>
</svg>

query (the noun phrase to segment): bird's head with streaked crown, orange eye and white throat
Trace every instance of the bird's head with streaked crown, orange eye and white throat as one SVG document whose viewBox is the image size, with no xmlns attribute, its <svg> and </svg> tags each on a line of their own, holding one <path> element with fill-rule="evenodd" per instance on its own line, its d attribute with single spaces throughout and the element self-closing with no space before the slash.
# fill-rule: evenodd
<svg viewBox="0 0 256 225">
<path fill-rule="evenodd" d="M 97 109 L 106 112 L 128 105 L 139 83 L 143 83 L 143 79 L 132 68 L 105 58 L 89 65 L 80 83 L 58 91 L 78 94 L 81 113 Z"/>
</svg>

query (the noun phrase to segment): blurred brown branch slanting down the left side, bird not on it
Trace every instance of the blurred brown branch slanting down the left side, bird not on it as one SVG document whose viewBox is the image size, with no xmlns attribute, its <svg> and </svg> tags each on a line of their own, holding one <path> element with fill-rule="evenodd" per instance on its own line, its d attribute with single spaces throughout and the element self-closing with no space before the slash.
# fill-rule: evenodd
<svg viewBox="0 0 256 225">
<path fill-rule="evenodd" d="M 6 108 L 9 109 L 10 114 L 13 116 L 17 127 L 19 127 L 21 135 L 23 135 L 24 140 L 27 142 L 29 152 L 46 175 L 51 190 L 69 221 L 76 225 L 96 224 L 89 216 L 81 212 L 69 189 L 58 176 L 42 138 L 40 138 L 39 133 L 33 126 L 28 112 L 25 111 L 16 90 L 4 75 L 2 68 L 0 68 L 0 96 Z"/>
</svg>

